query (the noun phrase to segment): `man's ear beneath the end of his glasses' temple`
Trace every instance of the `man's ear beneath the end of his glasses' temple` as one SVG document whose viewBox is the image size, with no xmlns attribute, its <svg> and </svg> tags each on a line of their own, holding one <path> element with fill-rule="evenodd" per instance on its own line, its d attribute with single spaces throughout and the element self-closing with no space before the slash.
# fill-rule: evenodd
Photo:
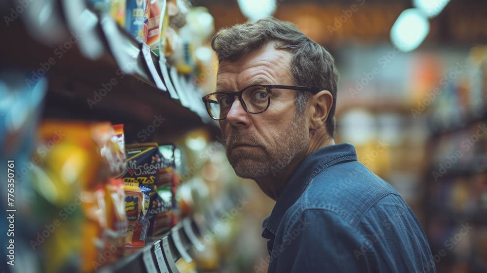
<svg viewBox="0 0 487 273">
<path fill-rule="evenodd" d="M 328 90 L 319 91 L 310 98 L 310 102 L 310 129 L 317 130 L 325 125 L 333 105 L 333 96 Z"/>
</svg>

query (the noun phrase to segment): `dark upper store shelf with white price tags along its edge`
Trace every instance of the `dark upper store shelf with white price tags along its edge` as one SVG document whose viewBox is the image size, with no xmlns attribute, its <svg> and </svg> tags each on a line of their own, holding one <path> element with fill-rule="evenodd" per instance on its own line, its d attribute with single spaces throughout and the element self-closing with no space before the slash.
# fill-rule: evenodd
<svg viewBox="0 0 487 273">
<path fill-rule="evenodd" d="M 151 124 L 160 117 L 165 120 L 159 130 L 175 134 L 214 125 L 202 104 L 189 109 L 172 98 L 174 94 L 171 97 L 167 85 L 188 87 L 173 82 L 184 76 L 164 77 L 159 57 L 111 18 L 90 11 L 83 0 L 39 1 L 52 3 L 52 14 L 44 25 L 57 23 L 53 29 L 57 35 L 41 39 L 33 35 L 37 29 L 45 28 L 31 24 L 40 16 L 31 11 L 35 8 L 33 3 L 8 26 L 1 25 L 2 33 L 9 39 L 0 44 L 0 69 L 25 71 L 26 83 L 37 79 L 36 74 L 46 73 L 49 91 L 44 118 Z M 15 8 L 14 2 L 10 5 Z M 170 69 L 164 60 L 162 64 L 163 69 Z M 201 93 L 191 85 L 178 92 L 189 97 L 199 97 Z"/>
</svg>

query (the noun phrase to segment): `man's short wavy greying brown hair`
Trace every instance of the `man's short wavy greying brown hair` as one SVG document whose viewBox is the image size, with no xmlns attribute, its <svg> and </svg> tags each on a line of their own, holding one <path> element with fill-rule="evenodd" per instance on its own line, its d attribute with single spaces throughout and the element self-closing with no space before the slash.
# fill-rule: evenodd
<svg viewBox="0 0 487 273">
<path fill-rule="evenodd" d="M 291 74 L 294 84 L 328 90 L 333 96 L 333 104 L 327 120 L 326 130 L 335 138 L 335 107 L 337 105 L 338 71 L 335 59 L 322 46 L 308 38 L 290 22 L 276 18 L 262 18 L 258 21 L 238 24 L 221 29 L 211 39 L 211 47 L 221 62 L 237 61 L 249 51 L 262 48 L 269 42 L 292 53 Z M 279 83 L 277 83 L 279 84 Z M 296 92 L 296 109 L 304 113 L 308 95 L 306 91 Z"/>
</svg>

